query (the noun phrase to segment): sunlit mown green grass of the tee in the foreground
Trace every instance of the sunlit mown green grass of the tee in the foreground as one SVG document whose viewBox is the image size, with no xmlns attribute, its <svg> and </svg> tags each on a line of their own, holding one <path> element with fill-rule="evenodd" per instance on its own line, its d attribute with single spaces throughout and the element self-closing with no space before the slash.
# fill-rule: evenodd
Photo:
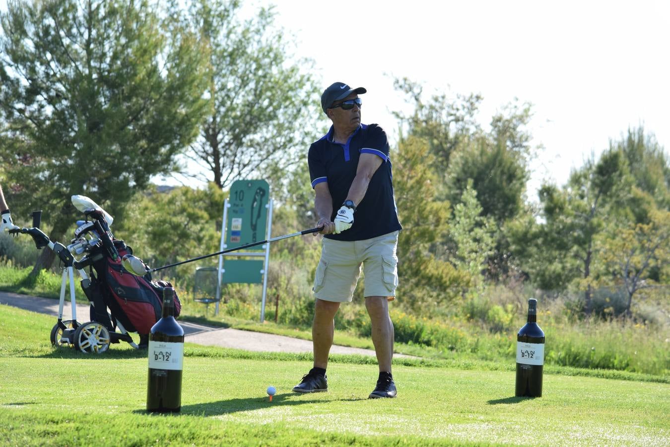
<svg viewBox="0 0 670 447">
<path fill-rule="evenodd" d="M 187 344 L 182 413 L 147 415 L 145 352 L 52 348 L 55 319 L 0 306 L 2 445 L 670 444 L 667 378 L 545 373 L 543 397 L 514 395 L 514 359 L 458 367 L 408 359 L 396 399 L 369 400 L 370 359 L 337 356 L 329 391 L 291 393 L 310 356 Z M 605 375 L 606 377 L 606 375 Z M 277 394 L 269 402 L 265 389 Z"/>
</svg>

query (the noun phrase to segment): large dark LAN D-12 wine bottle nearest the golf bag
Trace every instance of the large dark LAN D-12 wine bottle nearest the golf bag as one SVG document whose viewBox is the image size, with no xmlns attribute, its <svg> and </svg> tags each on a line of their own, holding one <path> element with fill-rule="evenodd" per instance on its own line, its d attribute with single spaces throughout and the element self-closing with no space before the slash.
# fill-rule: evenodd
<svg viewBox="0 0 670 447">
<path fill-rule="evenodd" d="M 174 319 L 174 289 L 163 290 L 163 316 L 149 334 L 147 411 L 178 413 L 182 409 L 184 329 Z"/>
</svg>

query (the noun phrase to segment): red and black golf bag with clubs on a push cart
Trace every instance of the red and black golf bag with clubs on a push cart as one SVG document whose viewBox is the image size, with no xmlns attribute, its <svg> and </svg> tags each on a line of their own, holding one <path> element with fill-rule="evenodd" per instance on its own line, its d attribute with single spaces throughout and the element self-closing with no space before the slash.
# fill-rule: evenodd
<svg viewBox="0 0 670 447">
<path fill-rule="evenodd" d="M 72 196 L 72 204 L 84 213 L 86 220 L 77 222 L 74 239 L 67 247 L 51 241 L 40 230 L 42 211 L 33 213 L 33 227 L 9 231 L 30 235 L 38 249 L 48 247 L 62 263 L 60 306 L 58 322 L 51 331 L 52 344 L 71 346 L 84 353 L 103 353 L 110 343 L 120 341 L 128 342 L 133 348 L 147 346 L 151 327 L 161 317 L 163 289 L 172 284 L 152 280 L 150 274 L 138 276 L 125 271 L 121 259 L 123 255 L 131 255 L 132 249 L 114 239 L 109 229 L 113 218 L 85 196 Z M 76 320 L 75 270 L 90 302 L 90 321 L 83 324 Z M 63 320 L 68 277 L 72 320 Z M 176 295 L 174 300 L 175 316 L 178 316 L 181 303 Z M 128 332 L 139 334 L 139 345 Z"/>
</svg>

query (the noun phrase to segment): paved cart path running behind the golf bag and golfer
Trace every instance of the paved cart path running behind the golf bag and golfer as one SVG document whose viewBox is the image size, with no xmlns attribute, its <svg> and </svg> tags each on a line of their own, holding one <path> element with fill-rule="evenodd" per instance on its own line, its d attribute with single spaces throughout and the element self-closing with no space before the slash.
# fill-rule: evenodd
<svg viewBox="0 0 670 447">
<path fill-rule="evenodd" d="M 17 308 L 58 316 L 58 300 L 50 298 L 38 298 L 13 294 L 11 292 L 0 292 L 0 304 L 8 304 Z M 76 317 L 79 322 L 87 322 L 89 318 L 88 304 L 77 304 Z M 72 304 L 65 302 L 63 319 L 72 319 Z M 56 320 L 54 320 L 54 323 Z M 216 328 L 204 326 L 191 322 L 180 321 L 184 328 L 185 340 L 191 343 L 204 344 L 207 346 L 222 346 L 224 348 L 236 348 L 254 351 L 269 351 L 280 353 L 311 353 L 312 341 L 292 338 L 283 335 L 264 334 L 262 332 L 251 332 L 232 328 Z M 360 354 L 375 355 L 372 349 L 350 348 L 348 346 L 333 345 L 330 349 L 332 354 Z M 393 357 L 411 357 L 403 354 L 394 354 Z"/>
</svg>

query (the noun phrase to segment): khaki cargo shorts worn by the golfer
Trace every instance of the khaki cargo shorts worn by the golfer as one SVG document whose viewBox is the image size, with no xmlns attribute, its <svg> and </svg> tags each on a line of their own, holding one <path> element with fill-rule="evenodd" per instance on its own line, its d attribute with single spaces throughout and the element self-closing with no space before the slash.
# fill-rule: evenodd
<svg viewBox="0 0 670 447">
<path fill-rule="evenodd" d="M 398 232 L 364 241 L 323 240 L 321 259 L 314 275 L 314 296 L 324 301 L 351 302 L 360 276 L 363 296 L 395 297 L 398 285 Z"/>
</svg>

